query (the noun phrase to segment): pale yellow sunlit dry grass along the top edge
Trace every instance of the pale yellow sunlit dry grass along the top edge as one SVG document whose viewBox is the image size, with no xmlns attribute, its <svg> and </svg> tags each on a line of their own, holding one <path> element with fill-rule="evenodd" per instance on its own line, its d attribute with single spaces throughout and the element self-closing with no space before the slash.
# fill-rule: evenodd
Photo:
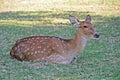
<svg viewBox="0 0 120 80">
<path fill-rule="evenodd" d="M 96 15 L 119 15 L 119 0 L 9 0 L 1 1 L 0 11 L 84 11 Z M 108 13 L 109 12 L 109 13 Z"/>
</svg>

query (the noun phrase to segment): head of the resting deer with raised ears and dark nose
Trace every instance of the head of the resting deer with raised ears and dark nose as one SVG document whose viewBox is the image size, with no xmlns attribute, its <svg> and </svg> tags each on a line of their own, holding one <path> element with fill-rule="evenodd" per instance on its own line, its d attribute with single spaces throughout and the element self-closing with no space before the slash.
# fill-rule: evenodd
<svg viewBox="0 0 120 80">
<path fill-rule="evenodd" d="M 79 31 L 85 37 L 99 38 L 99 33 L 95 30 L 94 25 L 91 23 L 91 16 L 87 15 L 85 21 L 79 21 L 74 16 L 69 16 L 70 22 L 78 27 Z"/>
</svg>

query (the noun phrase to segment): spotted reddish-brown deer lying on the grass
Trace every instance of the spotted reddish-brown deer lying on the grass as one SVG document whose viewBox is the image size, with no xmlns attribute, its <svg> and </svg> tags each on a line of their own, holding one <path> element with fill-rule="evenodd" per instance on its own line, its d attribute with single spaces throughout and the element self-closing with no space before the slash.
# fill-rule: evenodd
<svg viewBox="0 0 120 80">
<path fill-rule="evenodd" d="M 91 16 L 79 21 L 69 16 L 70 22 L 78 27 L 72 39 L 50 36 L 31 36 L 17 40 L 10 55 L 20 61 L 44 60 L 53 63 L 67 64 L 72 62 L 84 49 L 87 38 L 99 38 L 91 23 Z"/>
</svg>

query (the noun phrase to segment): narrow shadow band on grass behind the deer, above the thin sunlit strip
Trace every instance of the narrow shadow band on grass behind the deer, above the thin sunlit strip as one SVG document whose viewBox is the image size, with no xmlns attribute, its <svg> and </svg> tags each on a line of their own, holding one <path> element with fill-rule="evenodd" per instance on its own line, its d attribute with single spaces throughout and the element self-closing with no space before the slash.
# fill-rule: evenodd
<svg viewBox="0 0 120 80">
<path fill-rule="evenodd" d="M 83 16 L 90 12 L 76 12 L 76 11 L 17 11 L 17 12 L 1 12 L 0 19 L 2 20 L 39 20 L 40 18 L 64 18 L 67 19 L 69 15 Z"/>
</svg>

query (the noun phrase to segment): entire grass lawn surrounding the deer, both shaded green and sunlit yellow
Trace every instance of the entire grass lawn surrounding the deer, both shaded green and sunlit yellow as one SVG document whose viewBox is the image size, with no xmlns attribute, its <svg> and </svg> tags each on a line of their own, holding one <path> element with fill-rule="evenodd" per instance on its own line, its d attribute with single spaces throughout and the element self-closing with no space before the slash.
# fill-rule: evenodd
<svg viewBox="0 0 120 80">
<path fill-rule="evenodd" d="M 120 79 L 120 4 L 113 0 L 105 4 L 98 0 L 94 1 L 96 4 L 93 0 L 59 3 L 53 0 L 56 4 L 47 9 L 45 6 L 35 7 L 41 3 L 34 2 L 34 10 L 30 11 L 32 8 L 30 7 L 27 11 L 26 6 L 32 5 L 32 0 L 29 2 L 31 4 L 26 3 L 26 6 L 23 4 L 25 8 L 22 3 L 21 6 L 15 5 L 15 0 L 12 0 L 8 7 L 4 0 L 1 1 L 4 8 L 0 10 L 0 80 Z M 98 40 L 88 41 L 76 63 L 63 65 L 44 61 L 19 62 L 10 58 L 9 52 L 15 41 L 26 36 L 49 35 L 72 38 L 77 28 L 69 23 L 70 14 L 81 20 L 90 14 L 95 28 L 101 35 Z"/>
</svg>

